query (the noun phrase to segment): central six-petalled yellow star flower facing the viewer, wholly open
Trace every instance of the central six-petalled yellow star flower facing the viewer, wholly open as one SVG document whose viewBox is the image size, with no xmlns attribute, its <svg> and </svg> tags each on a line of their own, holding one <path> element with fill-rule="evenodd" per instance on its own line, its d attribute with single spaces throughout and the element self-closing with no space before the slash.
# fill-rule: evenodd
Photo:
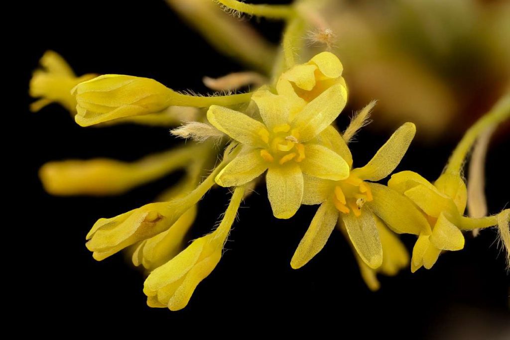
<svg viewBox="0 0 510 340">
<path fill-rule="evenodd" d="M 267 191 L 274 216 L 292 217 L 301 204 L 303 173 L 333 180 L 349 176 L 347 162 L 316 139 L 342 111 L 346 97 L 345 87 L 336 84 L 300 109 L 291 98 L 260 90 L 252 97 L 260 119 L 211 106 L 209 122 L 243 147 L 218 174 L 217 184 L 240 186 L 268 170 Z"/>
</svg>

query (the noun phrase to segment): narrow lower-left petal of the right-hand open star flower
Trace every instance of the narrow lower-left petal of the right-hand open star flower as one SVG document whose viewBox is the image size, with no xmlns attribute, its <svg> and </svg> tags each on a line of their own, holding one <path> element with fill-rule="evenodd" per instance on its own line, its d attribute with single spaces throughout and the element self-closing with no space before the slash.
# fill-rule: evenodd
<svg viewBox="0 0 510 340">
<path fill-rule="evenodd" d="M 301 268 L 319 253 L 324 248 L 337 222 L 338 210 L 335 205 L 330 201 L 322 203 L 292 256 L 291 267 Z"/>
</svg>

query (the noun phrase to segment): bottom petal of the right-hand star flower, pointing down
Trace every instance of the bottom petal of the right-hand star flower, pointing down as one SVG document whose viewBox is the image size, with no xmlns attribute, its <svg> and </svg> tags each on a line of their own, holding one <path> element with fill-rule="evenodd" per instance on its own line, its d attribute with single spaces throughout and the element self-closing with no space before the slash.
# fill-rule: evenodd
<svg viewBox="0 0 510 340">
<path fill-rule="evenodd" d="M 361 216 L 343 214 L 342 220 L 354 248 L 363 261 L 372 269 L 382 264 L 382 245 L 379 239 L 375 217 L 367 209 L 361 210 Z"/>
</svg>

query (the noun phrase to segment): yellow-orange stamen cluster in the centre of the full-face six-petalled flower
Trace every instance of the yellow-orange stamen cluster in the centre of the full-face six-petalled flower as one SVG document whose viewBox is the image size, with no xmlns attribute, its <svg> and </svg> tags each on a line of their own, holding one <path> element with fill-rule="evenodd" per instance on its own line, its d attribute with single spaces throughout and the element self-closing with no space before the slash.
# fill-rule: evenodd
<svg viewBox="0 0 510 340">
<path fill-rule="evenodd" d="M 299 132 L 291 129 L 289 124 L 276 125 L 271 132 L 261 129 L 259 136 L 267 144 L 267 148 L 260 150 L 260 155 L 267 162 L 283 165 L 304 159 L 304 145 L 299 143 Z"/>
</svg>

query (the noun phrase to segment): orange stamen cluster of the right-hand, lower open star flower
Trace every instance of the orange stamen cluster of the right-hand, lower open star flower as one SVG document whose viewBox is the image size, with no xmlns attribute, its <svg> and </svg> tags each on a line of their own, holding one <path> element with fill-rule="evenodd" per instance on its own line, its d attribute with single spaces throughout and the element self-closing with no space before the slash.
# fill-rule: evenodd
<svg viewBox="0 0 510 340">
<path fill-rule="evenodd" d="M 365 202 L 373 200 L 372 192 L 367 184 L 356 177 L 352 173 L 347 179 L 337 182 L 335 194 L 333 195 L 333 203 L 338 211 L 349 214 L 350 211 L 356 217 L 361 215 L 361 208 Z"/>
</svg>

